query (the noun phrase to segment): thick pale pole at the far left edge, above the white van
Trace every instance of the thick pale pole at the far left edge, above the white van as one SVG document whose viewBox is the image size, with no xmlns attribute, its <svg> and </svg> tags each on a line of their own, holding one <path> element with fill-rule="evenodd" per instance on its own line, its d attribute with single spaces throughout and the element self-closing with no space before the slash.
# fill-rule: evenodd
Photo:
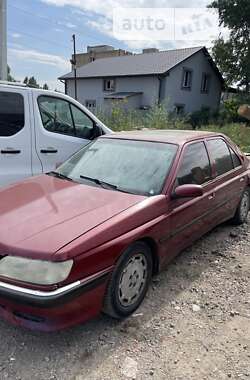
<svg viewBox="0 0 250 380">
<path fill-rule="evenodd" d="M 7 6 L 0 0 L 0 80 L 7 80 Z"/>
</svg>

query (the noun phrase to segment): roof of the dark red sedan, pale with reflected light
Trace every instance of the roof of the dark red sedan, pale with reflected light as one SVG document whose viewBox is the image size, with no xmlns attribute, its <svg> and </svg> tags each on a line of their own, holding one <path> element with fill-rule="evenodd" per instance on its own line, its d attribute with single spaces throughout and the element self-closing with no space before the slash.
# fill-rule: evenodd
<svg viewBox="0 0 250 380">
<path fill-rule="evenodd" d="M 223 136 L 215 132 L 189 131 L 189 130 L 141 130 L 141 131 L 123 131 L 104 135 L 102 138 L 123 139 L 123 140 L 142 140 L 164 142 L 177 145 L 183 145 L 186 142 L 204 139 L 208 137 Z"/>
</svg>

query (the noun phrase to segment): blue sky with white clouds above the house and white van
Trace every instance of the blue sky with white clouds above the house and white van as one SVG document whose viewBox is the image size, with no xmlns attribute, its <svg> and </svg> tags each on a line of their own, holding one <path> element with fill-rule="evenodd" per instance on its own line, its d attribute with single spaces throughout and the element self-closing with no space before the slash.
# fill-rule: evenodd
<svg viewBox="0 0 250 380">
<path fill-rule="evenodd" d="M 77 52 L 88 45 L 112 45 L 138 53 L 145 47 L 160 49 L 200 46 L 200 41 L 119 40 L 114 37 L 115 7 L 206 7 L 209 0 L 7 0 L 8 64 L 23 81 L 35 76 L 42 85 L 62 90 L 57 78 L 71 70 L 72 34 Z M 211 41 L 205 41 L 206 44 Z M 204 44 L 204 43 L 202 43 Z"/>
</svg>

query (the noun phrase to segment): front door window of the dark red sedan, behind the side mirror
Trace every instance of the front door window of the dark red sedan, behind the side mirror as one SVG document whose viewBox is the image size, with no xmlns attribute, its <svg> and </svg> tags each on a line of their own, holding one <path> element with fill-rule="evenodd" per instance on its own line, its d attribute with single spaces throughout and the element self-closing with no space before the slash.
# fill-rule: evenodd
<svg viewBox="0 0 250 380">
<path fill-rule="evenodd" d="M 188 145 L 185 148 L 175 186 L 203 183 L 211 179 L 211 166 L 203 142 Z"/>
</svg>

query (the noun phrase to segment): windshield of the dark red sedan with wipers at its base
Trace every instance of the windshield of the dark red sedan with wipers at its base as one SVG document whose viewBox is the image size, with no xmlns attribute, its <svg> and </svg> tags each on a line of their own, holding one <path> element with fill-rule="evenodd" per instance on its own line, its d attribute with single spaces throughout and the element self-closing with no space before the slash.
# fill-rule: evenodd
<svg viewBox="0 0 250 380">
<path fill-rule="evenodd" d="M 157 195 L 162 191 L 176 151 L 174 144 L 100 138 L 53 173 L 92 186 Z"/>
</svg>

